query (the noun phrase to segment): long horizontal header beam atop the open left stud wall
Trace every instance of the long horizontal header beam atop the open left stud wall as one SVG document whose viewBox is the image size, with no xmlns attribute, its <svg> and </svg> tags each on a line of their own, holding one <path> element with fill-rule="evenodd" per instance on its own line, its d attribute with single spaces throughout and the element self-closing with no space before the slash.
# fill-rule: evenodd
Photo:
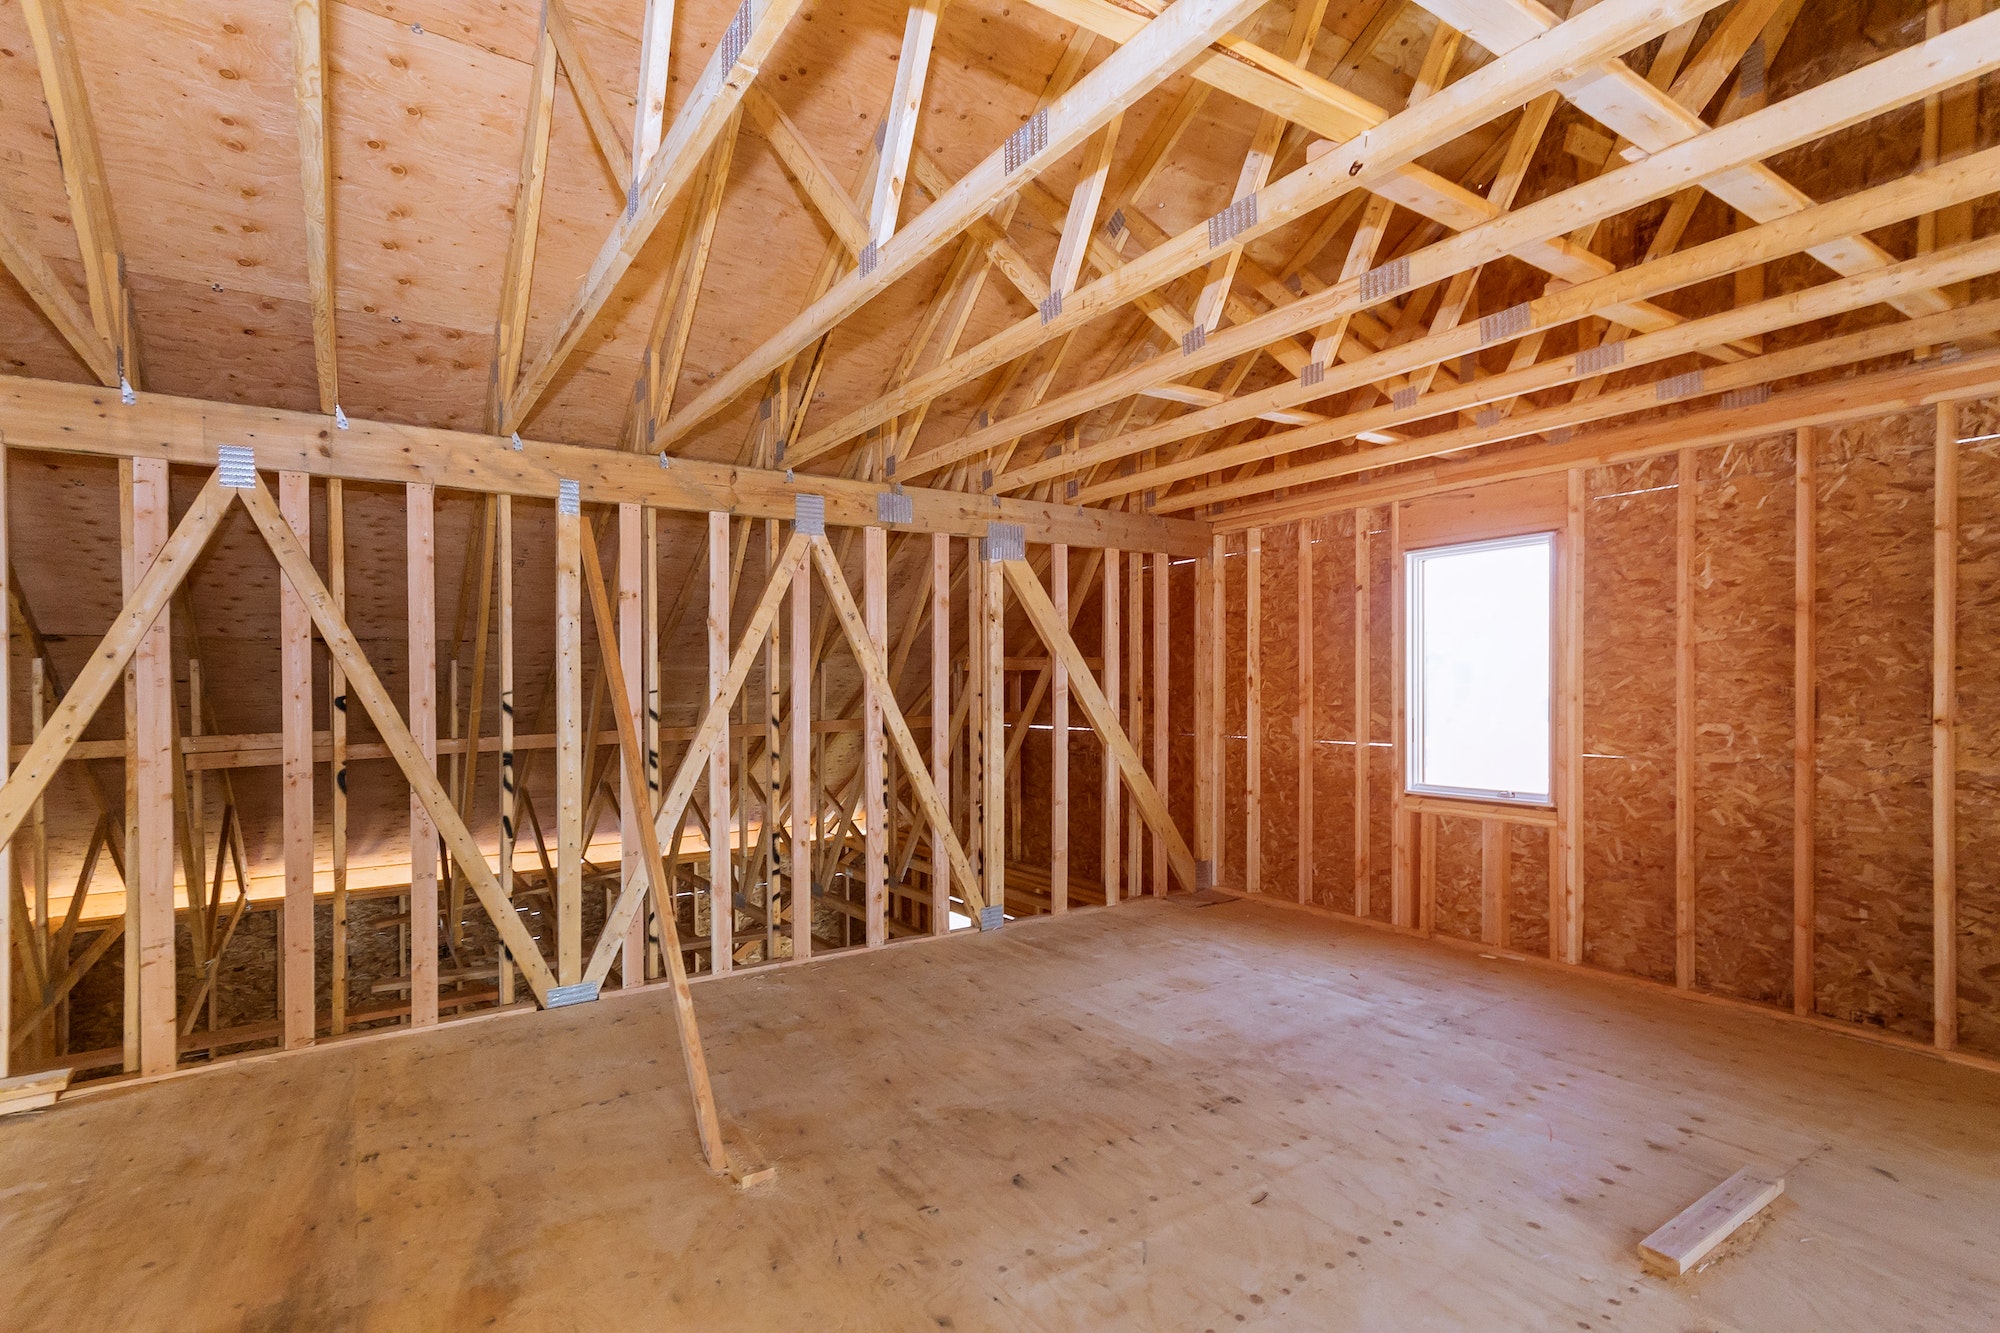
<svg viewBox="0 0 2000 1333">
<path fill-rule="evenodd" d="M 836 526 L 878 524 L 876 482 L 740 468 L 728 462 L 628 454 L 580 444 L 398 426 L 350 418 L 348 430 L 316 412 L 138 394 L 134 406 L 118 390 L 0 376 L 0 438 L 12 448 L 42 448 L 106 458 L 166 458 L 214 466 L 218 444 L 246 444 L 266 470 L 310 472 L 348 480 L 432 484 L 490 494 L 556 496 L 556 482 L 582 484 L 594 504 L 652 504 L 688 512 L 726 510 L 746 518 L 784 518 L 798 494 L 826 496 L 826 520 Z M 906 532 L 984 536 L 988 522 L 1018 522 L 1032 542 L 1164 550 L 1176 556 L 1208 548 L 1208 524 L 1154 518 L 1076 504 L 1042 504 L 974 496 L 958 490 L 904 488 L 912 520 L 882 524 Z"/>
</svg>

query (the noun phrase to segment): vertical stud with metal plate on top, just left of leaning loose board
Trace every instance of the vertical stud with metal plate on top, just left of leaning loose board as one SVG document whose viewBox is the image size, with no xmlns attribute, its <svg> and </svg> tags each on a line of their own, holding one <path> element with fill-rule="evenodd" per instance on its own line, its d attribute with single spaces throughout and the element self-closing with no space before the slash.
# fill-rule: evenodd
<svg viewBox="0 0 2000 1333">
<path fill-rule="evenodd" d="M 568 488 L 566 488 L 568 490 Z M 584 979 L 584 518 L 556 502 L 556 985 Z"/>
</svg>

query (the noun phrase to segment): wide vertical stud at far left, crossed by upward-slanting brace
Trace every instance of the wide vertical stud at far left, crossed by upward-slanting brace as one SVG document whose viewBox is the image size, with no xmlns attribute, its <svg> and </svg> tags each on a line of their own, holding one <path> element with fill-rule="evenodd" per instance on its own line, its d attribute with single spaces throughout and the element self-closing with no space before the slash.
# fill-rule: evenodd
<svg viewBox="0 0 2000 1333">
<path fill-rule="evenodd" d="M 146 576 L 166 544 L 168 470 L 164 458 L 132 460 L 130 582 Z M 172 610 L 160 616 L 132 654 L 132 833 L 126 871 L 138 903 L 138 1071 L 174 1069 L 174 660 Z M 130 909 L 128 909 L 130 911 Z M 130 927 L 128 927 L 130 929 Z"/>
</svg>

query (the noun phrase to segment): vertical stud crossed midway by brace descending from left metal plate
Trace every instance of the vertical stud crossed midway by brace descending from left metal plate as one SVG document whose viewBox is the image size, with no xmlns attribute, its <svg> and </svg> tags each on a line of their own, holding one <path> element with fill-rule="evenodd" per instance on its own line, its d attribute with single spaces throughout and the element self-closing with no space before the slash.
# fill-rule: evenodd
<svg viewBox="0 0 2000 1333">
<path fill-rule="evenodd" d="M 438 765 L 438 528 L 430 484 L 404 488 L 410 564 L 410 737 Z M 410 1025 L 438 1021 L 438 829 L 410 793 Z"/>
</svg>

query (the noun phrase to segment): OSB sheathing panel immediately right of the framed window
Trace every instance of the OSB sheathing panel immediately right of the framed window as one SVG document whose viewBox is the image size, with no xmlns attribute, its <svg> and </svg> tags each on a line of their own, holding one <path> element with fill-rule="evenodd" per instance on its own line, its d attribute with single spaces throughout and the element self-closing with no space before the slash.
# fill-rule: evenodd
<svg viewBox="0 0 2000 1333">
<path fill-rule="evenodd" d="M 1676 460 L 1586 484 L 1584 961 L 1672 981 Z"/>
</svg>

